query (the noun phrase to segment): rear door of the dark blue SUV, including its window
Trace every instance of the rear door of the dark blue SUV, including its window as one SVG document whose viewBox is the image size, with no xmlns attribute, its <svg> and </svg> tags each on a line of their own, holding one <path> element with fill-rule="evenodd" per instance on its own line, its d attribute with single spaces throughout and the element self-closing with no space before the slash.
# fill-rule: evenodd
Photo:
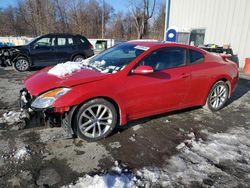
<svg viewBox="0 0 250 188">
<path fill-rule="evenodd" d="M 75 45 L 72 37 L 58 37 L 56 45 L 57 62 L 64 63 L 69 61 L 74 53 Z"/>
</svg>

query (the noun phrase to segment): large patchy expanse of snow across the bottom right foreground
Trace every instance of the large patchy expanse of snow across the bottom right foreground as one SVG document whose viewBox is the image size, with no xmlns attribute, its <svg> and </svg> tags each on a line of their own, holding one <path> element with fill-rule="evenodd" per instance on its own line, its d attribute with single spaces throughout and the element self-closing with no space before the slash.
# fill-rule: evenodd
<svg viewBox="0 0 250 188">
<path fill-rule="evenodd" d="M 68 188 L 108 187 L 248 187 L 250 184 L 250 129 L 237 127 L 227 133 L 209 133 L 206 140 L 193 133 L 177 146 L 163 168 L 134 172 L 115 167 L 105 174 L 85 175 Z"/>
</svg>

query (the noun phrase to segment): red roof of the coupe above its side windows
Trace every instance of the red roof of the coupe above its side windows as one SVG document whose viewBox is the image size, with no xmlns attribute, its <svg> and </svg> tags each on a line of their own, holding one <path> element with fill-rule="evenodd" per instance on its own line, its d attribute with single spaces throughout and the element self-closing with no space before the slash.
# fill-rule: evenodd
<svg viewBox="0 0 250 188">
<path fill-rule="evenodd" d="M 160 48 L 160 47 L 170 47 L 170 46 L 171 47 L 189 48 L 189 49 L 199 51 L 203 54 L 207 53 L 207 51 L 200 49 L 198 47 L 190 46 L 187 44 L 175 43 L 175 42 L 166 42 L 166 41 L 157 41 L 157 40 L 131 40 L 131 41 L 128 41 L 128 43 L 133 43 L 133 44 L 140 45 L 140 46 L 146 46 L 149 48 Z"/>
</svg>

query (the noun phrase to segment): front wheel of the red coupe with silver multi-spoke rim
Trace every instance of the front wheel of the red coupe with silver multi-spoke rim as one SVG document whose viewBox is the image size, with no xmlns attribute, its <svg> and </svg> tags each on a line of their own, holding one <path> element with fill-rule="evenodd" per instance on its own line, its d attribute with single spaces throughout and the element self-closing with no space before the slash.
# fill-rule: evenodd
<svg viewBox="0 0 250 188">
<path fill-rule="evenodd" d="M 97 141 L 107 137 L 117 125 L 117 111 L 105 99 L 94 99 L 84 103 L 73 120 L 77 136 L 86 141 Z"/>
</svg>

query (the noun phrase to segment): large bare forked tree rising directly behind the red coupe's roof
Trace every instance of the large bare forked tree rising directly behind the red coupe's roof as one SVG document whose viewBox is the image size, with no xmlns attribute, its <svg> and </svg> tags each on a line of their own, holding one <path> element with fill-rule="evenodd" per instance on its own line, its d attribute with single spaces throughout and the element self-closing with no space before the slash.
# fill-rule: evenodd
<svg viewBox="0 0 250 188">
<path fill-rule="evenodd" d="M 153 1 L 153 2 L 152 2 Z M 148 31 L 148 21 L 153 17 L 155 0 L 134 0 L 131 1 L 131 12 L 137 30 L 137 38 L 142 39 Z"/>
</svg>

